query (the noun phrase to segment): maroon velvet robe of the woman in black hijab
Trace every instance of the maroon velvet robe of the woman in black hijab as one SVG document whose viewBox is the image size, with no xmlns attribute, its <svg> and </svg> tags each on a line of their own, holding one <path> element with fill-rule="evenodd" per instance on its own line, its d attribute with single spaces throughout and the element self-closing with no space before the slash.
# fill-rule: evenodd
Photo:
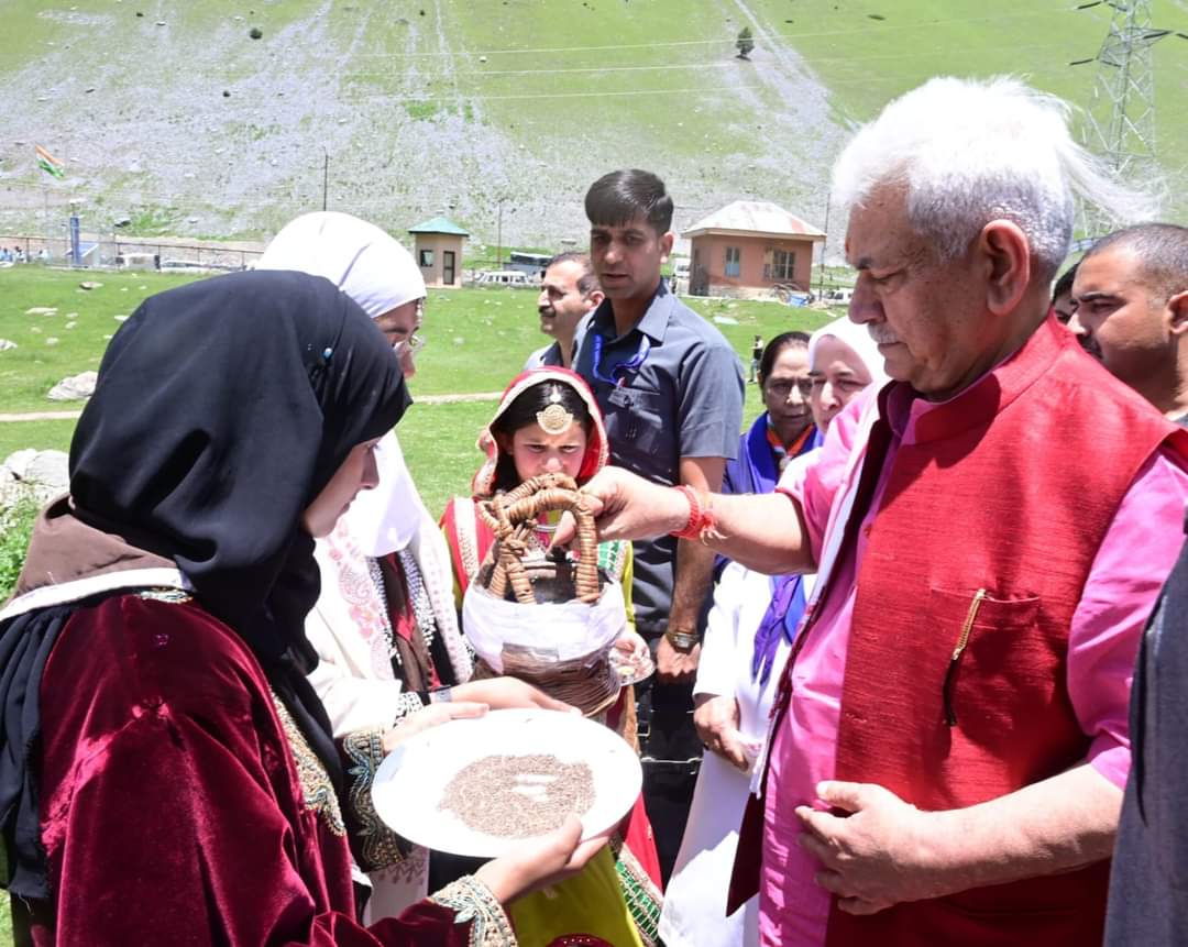
<svg viewBox="0 0 1188 947">
<path fill-rule="evenodd" d="M 42 680 L 37 945 L 466 945 L 423 901 L 365 928 L 347 840 L 307 806 L 267 682 L 196 602 L 70 619 Z"/>
</svg>

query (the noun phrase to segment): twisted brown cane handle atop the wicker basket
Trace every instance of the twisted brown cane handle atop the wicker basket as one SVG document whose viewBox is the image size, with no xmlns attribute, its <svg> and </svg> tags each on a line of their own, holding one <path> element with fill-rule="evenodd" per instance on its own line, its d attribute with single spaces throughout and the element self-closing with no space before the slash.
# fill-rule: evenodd
<svg viewBox="0 0 1188 947">
<path fill-rule="evenodd" d="M 494 566 L 488 591 L 503 598 L 511 583 L 520 605 L 533 605 L 532 582 L 524 568 L 524 554 L 542 513 L 569 511 L 577 520 L 577 560 L 575 586 L 577 600 L 593 605 L 599 600 L 598 534 L 594 516 L 577 484 L 565 474 L 542 474 L 525 480 L 514 490 L 497 493 L 479 504 L 479 516 L 495 535 L 492 547 Z"/>
</svg>

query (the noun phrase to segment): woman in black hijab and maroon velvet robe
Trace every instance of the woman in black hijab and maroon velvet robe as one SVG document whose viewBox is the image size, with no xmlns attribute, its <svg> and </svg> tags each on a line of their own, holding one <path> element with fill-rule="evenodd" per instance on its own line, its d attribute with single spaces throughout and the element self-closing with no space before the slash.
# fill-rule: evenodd
<svg viewBox="0 0 1188 947">
<path fill-rule="evenodd" d="M 116 333 L 0 612 L 0 831 L 33 943 L 516 942 L 500 902 L 576 821 L 361 927 L 343 744 L 378 763 L 399 732 L 335 740 L 305 676 L 314 536 L 407 404 L 383 335 L 301 273 L 170 290 Z"/>
</svg>

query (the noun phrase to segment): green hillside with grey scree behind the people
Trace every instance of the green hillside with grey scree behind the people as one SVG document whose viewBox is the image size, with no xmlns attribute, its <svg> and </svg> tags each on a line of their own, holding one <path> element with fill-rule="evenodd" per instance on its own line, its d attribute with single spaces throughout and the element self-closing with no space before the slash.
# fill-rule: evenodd
<svg viewBox="0 0 1188 947">
<path fill-rule="evenodd" d="M 446 213 L 506 244 L 581 239 L 604 171 L 661 172 L 677 225 L 738 197 L 824 222 L 847 131 L 930 75 L 1015 72 L 1087 105 L 1111 8 L 1070 0 L 0 0 L 0 232 L 266 235 L 327 201 L 393 229 Z M 1188 31 L 1182 0 L 1157 26 Z M 137 14 L 143 15 L 137 15 Z M 733 40 L 747 26 L 750 62 Z M 249 30 L 261 32 L 252 39 Z M 1156 45 L 1184 210 L 1188 43 Z M 43 144 L 63 182 L 33 164 Z M 44 179 L 43 179 L 44 178 Z M 500 207 L 503 213 L 500 214 Z"/>
</svg>

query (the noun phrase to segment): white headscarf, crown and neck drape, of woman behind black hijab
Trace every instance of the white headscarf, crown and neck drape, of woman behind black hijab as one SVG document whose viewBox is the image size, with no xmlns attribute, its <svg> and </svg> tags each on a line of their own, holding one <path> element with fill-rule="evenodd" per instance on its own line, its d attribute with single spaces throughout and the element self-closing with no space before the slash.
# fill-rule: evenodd
<svg viewBox="0 0 1188 947">
<path fill-rule="evenodd" d="M 424 277 L 409 251 L 374 223 L 334 210 L 286 223 L 257 269 L 324 276 L 372 318 L 425 295 Z M 377 444 L 375 463 L 379 484 L 360 492 L 343 516 L 360 551 L 372 557 L 404 549 L 428 516 L 396 434 L 385 434 Z"/>
</svg>

